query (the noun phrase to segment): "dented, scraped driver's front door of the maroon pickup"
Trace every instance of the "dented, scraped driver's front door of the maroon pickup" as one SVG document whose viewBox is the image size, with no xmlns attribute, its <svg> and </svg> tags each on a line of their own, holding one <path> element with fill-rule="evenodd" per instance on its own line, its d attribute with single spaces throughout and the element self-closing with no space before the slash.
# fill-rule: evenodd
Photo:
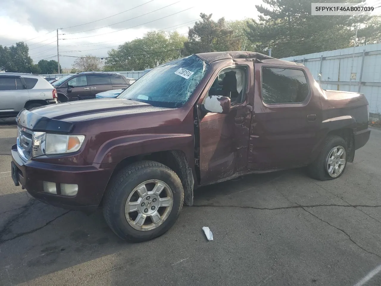
<svg viewBox="0 0 381 286">
<path fill-rule="evenodd" d="M 199 111 L 200 183 L 202 185 L 232 177 L 247 169 L 250 122 L 253 101 L 253 65 L 239 60 L 212 77 L 199 106 L 208 95 L 226 95 L 228 114 Z M 224 80 L 224 77 L 229 77 Z"/>
</svg>

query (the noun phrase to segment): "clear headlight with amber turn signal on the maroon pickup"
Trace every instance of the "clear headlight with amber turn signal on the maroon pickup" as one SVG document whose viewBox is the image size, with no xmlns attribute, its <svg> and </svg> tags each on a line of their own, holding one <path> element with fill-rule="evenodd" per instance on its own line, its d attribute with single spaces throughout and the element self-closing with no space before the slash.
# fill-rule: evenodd
<svg viewBox="0 0 381 286">
<path fill-rule="evenodd" d="M 46 134 L 45 154 L 63 154 L 78 151 L 85 136 Z"/>
</svg>

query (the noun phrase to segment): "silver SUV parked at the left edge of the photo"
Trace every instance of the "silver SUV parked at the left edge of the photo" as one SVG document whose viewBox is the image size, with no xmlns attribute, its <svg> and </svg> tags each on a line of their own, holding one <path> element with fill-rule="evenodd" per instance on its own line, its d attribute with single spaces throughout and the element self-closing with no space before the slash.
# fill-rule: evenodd
<svg viewBox="0 0 381 286">
<path fill-rule="evenodd" d="M 0 118 L 14 117 L 22 109 L 57 103 L 57 91 L 36 74 L 0 73 Z"/>
</svg>

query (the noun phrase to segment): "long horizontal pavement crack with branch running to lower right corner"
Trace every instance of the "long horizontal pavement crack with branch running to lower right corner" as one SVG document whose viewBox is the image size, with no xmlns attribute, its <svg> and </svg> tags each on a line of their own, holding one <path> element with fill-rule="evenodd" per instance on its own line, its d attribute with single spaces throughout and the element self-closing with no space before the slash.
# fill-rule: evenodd
<svg viewBox="0 0 381 286">
<path fill-rule="evenodd" d="M 287 199 L 288 200 L 288 199 Z M 291 202 L 290 200 L 288 200 L 289 202 Z M 325 222 L 327 223 L 328 225 L 330 225 L 331 227 L 334 227 L 336 228 L 337 230 L 341 231 L 342 233 L 344 233 L 350 241 L 352 241 L 352 243 L 354 243 L 357 247 L 359 247 L 360 249 L 362 249 L 363 251 L 369 253 L 369 254 L 373 254 L 373 255 L 376 255 L 377 257 L 381 258 L 381 255 L 378 255 L 376 254 L 375 252 L 371 252 L 371 251 L 368 251 L 367 249 L 363 248 L 362 246 L 360 246 L 359 244 L 357 244 L 352 238 L 351 236 L 344 230 L 342 230 L 341 228 L 338 228 L 336 227 L 335 225 L 332 225 L 331 223 L 327 222 L 326 220 L 323 220 L 323 219 L 320 219 L 320 217 L 318 217 L 317 215 L 315 214 L 312 214 L 312 212 L 309 212 L 308 210 L 306 210 L 306 208 L 314 208 L 314 207 L 381 207 L 381 206 L 370 206 L 370 205 L 341 205 L 341 204 L 316 204 L 316 205 L 307 205 L 307 206 L 302 206 L 296 202 L 293 202 L 294 204 L 296 204 L 295 206 L 288 206 L 288 207 L 274 207 L 274 208 L 269 208 L 269 207 L 249 207 L 249 206 L 222 206 L 222 205 L 212 205 L 212 204 L 205 204 L 205 205 L 193 205 L 194 207 L 239 207 L 239 208 L 242 208 L 242 209 L 257 209 L 257 210 L 280 210 L 280 209 L 303 209 L 304 211 L 306 211 L 307 213 L 309 213 L 310 215 L 316 217 L 317 219 L 319 219 L 320 221 L 322 222 Z M 357 209 L 357 208 L 356 208 Z"/>
</svg>

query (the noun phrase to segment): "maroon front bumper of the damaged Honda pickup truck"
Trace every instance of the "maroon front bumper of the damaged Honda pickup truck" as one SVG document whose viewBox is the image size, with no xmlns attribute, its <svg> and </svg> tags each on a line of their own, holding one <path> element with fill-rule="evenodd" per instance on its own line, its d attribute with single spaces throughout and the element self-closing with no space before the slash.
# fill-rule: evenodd
<svg viewBox="0 0 381 286">
<path fill-rule="evenodd" d="M 18 173 L 16 181 L 34 198 L 53 206 L 85 212 L 98 208 L 114 167 L 114 164 L 106 164 L 107 168 L 102 168 L 101 164 L 68 166 L 33 160 L 25 162 L 17 152 L 17 145 L 12 146 L 11 155 L 13 169 Z M 13 173 L 14 170 L 12 177 Z M 46 193 L 43 181 L 54 182 L 58 188 L 60 183 L 77 184 L 78 193 L 75 196 Z"/>
</svg>

